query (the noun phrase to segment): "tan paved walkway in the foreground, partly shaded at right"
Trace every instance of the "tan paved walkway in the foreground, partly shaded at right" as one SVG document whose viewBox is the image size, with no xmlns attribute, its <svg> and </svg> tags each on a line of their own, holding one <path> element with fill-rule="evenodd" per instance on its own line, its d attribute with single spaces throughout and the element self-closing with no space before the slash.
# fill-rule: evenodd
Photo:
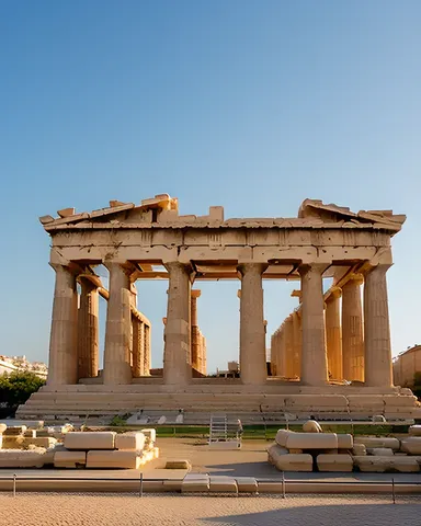
<svg viewBox="0 0 421 526">
<path fill-rule="evenodd" d="M 0 494 L 0 526 L 420 526 L 421 500 Z"/>
</svg>

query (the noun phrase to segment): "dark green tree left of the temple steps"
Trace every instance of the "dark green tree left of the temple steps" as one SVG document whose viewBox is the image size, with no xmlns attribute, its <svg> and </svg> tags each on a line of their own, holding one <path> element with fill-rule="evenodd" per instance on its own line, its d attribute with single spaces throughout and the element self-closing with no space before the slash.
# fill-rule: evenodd
<svg viewBox="0 0 421 526">
<path fill-rule="evenodd" d="M 0 403 L 11 414 L 18 405 L 25 403 L 33 392 L 45 385 L 45 380 L 31 370 L 18 370 L 0 376 Z"/>
</svg>

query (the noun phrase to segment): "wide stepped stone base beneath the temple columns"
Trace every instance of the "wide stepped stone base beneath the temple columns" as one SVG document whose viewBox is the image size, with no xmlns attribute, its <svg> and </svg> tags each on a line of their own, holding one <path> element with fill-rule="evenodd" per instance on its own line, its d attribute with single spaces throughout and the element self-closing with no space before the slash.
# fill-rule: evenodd
<svg viewBox="0 0 421 526">
<path fill-rule="evenodd" d="M 421 419 L 421 407 L 410 389 L 352 386 L 244 386 L 200 380 L 177 390 L 163 384 L 127 386 L 45 386 L 16 412 L 20 419 L 60 420 L 112 416 L 139 410 L 183 410 L 184 423 L 208 423 L 209 413 L 230 412 L 250 421 L 283 422 L 309 418 L 319 420 L 365 420 L 383 414 L 387 421 Z M 193 416 L 196 415 L 195 418 Z M 193 418 L 189 418 L 193 416 Z M 255 415 L 257 419 L 252 416 Z"/>
</svg>

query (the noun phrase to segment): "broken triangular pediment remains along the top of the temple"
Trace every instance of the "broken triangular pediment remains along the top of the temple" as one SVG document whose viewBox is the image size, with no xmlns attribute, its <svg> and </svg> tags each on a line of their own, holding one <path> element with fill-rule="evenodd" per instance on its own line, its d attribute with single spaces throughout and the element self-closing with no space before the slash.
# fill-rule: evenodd
<svg viewBox="0 0 421 526">
<path fill-rule="evenodd" d="M 139 205 L 111 201 L 110 206 L 93 211 L 76 213 L 75 208 L 57 211 L 58 217 L 43 216 L 39 221 L 48 232 L 68 229 L 105 228 L 375 228 L 391 235 L 401 229 L 405 215 L 392 210 L 360 210 L 318 199 L 305 199 L 298 210 L 298 218 L 232 218 L 224 219 L 221 206 L 210 206 L 206 216 L 180 216 L 175 197 L 158 194 L 143 199 Z"/>
</svg>

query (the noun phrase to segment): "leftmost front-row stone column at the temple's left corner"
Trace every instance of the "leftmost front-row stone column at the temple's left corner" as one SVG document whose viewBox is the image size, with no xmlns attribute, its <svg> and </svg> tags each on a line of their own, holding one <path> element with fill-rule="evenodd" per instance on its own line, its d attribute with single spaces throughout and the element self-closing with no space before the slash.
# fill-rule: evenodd
<svg viewBox="0 0 421 526">
<path fill-rule="evenodd" d="M 78 375 L 76 276 L 68 267 L 56 271 L 52 332 L 49 340 L 48 385 L 76 384 Z"/>
</svg>

